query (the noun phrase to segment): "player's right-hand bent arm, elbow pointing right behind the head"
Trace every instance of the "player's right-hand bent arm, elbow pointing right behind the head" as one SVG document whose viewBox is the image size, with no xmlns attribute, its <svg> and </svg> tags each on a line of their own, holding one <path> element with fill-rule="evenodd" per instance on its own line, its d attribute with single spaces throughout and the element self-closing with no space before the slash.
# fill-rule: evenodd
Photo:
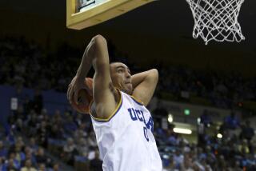
<svg viewBox="0 0 256 171">
<path fill-rule="evenodd" d="M 148 105 L 158 84 L 158 70 L 152 69 L 134 74 L 131 77 L 131 82 L 134 86 L 132 95 L 142 101 L 144 105 Z"/>
</svg>

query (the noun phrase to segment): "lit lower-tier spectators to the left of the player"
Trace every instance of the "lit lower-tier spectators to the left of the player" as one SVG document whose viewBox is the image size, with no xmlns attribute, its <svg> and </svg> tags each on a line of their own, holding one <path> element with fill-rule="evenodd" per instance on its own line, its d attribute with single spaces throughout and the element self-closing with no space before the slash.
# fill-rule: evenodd
<svg viewBox="0 0 256 171">
<path fill-rule="evenodd" d="M 58 162 L 75 166 L 79 161 L 86 163 L 87 170 L 102 167 L 89 115 L 74 113 L 69 108 L 65 113 L 57 109 L 50 114 L 43 108 L 38 91 L 33 99 L 26 97 L 18 101 L 21 101 L 18 109 L 8 117 L 1 135 L 0 170 L 7 171 L 10 167 L 22 170 L 28 163 L 36 170 L 55 171 L 63 170 L 59 169 Z M 46 155 L 45 150 L 50 155 Z M 11 164 L 13 159 L 15 162 Z M 94 169 L 90 168 L 92 166 Z"/>
</svg>

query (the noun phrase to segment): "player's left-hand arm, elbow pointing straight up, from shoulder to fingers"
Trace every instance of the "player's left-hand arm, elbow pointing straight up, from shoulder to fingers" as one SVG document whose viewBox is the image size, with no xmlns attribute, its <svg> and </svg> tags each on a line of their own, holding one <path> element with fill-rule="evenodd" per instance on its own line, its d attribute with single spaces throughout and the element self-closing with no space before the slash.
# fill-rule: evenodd
<svg viewBox="0 0 256 171">
<path fill-rule="evenodd" d="M 97 115 L 95 117 L 107 118 L 115 109 L 118 92 L 113 89 L 107 43 L 101 35 L 92 38 L 90 44 L 86 47 L 76 78 L 71 82 L 68 90 L 69 100 L 71 100 L 73 93 L 75 98 L 78 97 L 78 91 L 84 86 L 84 79 L 91 66 L 95 70 L 93 88 L 95 115 Z"/>
</svg>

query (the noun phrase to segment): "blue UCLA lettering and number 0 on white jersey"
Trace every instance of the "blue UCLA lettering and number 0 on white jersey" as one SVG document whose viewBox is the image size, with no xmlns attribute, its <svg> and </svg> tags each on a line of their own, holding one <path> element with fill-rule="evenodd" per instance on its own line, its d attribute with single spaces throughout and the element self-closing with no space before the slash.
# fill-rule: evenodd
<svg viewBox="0 0 256 171">
<path fill-rule="evenodd" d="M 154 121 L 152 117 L 150 117 L 149 121 L 146 122 L 146 119 L 144 117 L 144 113 L 142 112 L 142 110 L 129 108 L 128 112 L 130 113 L 131 120 L 144 122 L 145 124 L 145 126 L 143 127 L 144 137 L 146 138 L 146 141 L 149 141 L 147 129 L 150 129 L 152 133 L 154 131 Z"/>
</svg>

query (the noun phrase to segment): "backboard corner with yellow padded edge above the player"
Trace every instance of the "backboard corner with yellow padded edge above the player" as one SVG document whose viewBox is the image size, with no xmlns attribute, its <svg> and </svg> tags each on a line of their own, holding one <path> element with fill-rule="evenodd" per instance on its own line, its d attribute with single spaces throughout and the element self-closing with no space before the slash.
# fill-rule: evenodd
<svg viewBox="0 0 256 171">
<path fill-rule="evenodd" d="M 66 0 L 66 26 L 82 30 L 155 0 Z"/>
</svg>

